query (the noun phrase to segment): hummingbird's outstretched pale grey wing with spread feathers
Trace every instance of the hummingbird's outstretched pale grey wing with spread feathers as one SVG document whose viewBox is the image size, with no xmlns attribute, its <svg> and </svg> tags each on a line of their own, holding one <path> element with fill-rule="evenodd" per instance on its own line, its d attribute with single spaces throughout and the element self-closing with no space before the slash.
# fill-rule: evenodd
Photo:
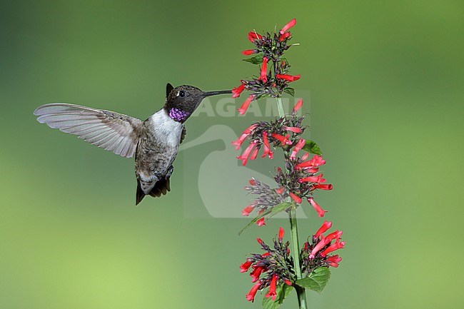
<svg viewBox="0 0 464 309">
<path fill-rule="evenodd" d="M 66 103 L 39 106 L 34 115 L 50 128 L 59 128 L 126 158 L 135 153 L 142 128 L 142 121 L 131 116 Z"/>
</svg>

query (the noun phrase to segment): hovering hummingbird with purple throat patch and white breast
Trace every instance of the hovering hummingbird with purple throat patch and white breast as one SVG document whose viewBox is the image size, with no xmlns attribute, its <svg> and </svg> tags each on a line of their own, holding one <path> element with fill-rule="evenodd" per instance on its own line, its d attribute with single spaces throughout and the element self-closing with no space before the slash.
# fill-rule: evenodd
<svg viewBox="0 0 464 309">
<path fill-rule="evenodd" d="M 136 205 L 146 195 L 160 197 L 171 191 L 173 173 L 180 143 L 186 136 L 185 122 L 203 98 L 232 93 L 230 90 L 201 91 L 182 85 L 166 85 L 163 108 L 145 121 L 114 111 L 68 103 L 49 103 L 34 111 L 39 123 L 74 134 L 95 146 L 118 156 L 135 155 Z"/>
</svg>

